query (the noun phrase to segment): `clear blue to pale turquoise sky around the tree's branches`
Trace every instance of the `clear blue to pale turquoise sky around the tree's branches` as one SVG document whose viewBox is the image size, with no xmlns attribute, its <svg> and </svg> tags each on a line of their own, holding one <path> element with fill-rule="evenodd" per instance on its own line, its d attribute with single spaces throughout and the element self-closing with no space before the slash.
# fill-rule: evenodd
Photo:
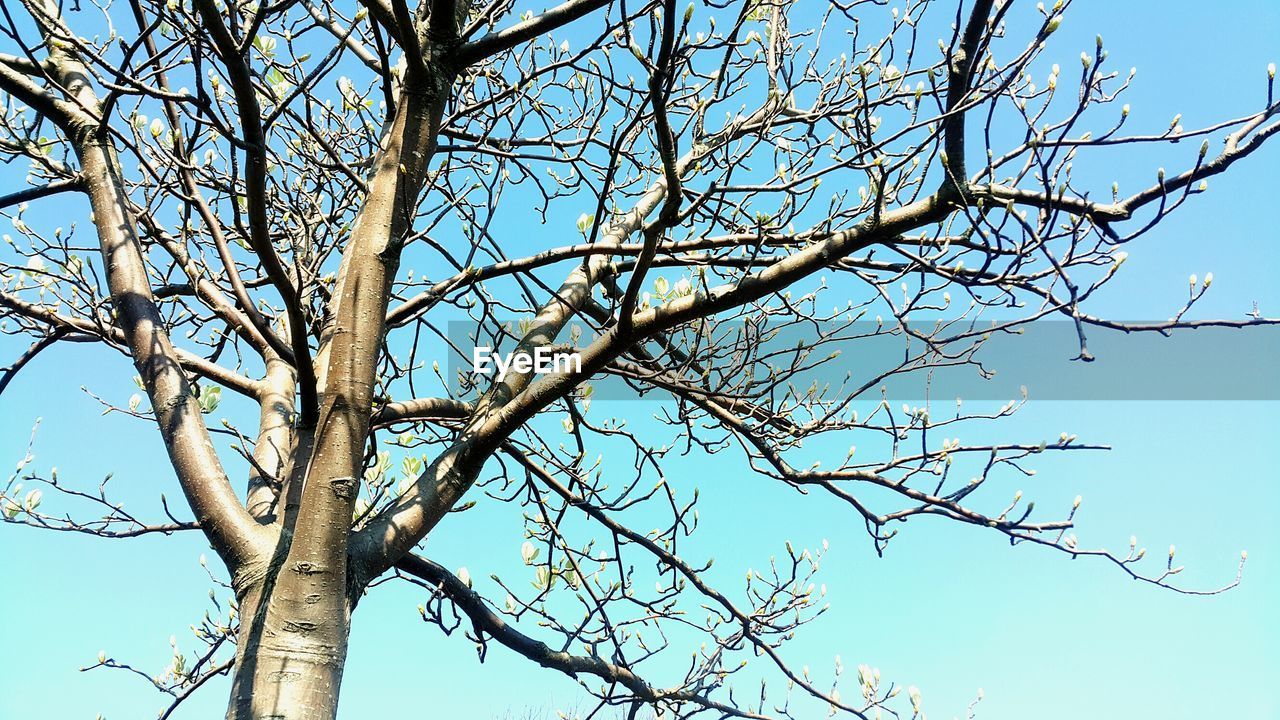
<svg viewBox="0 0 1280 720">
<path fill-rule="evenodd" d="M 1093 47 L 1096 33 L 1119 67 L 1139 69 L 1128 100 L 1137 127 L 1166 127 L 1175 113 L 1187 127 L 1252 113 L 1262 102 L 1266 64 L 1280 61 L 1280 5 L 1271 0 L 1078 3 L 1044 61 L 1068 67 Z M 1187 152 L 1194 149 L 1178 158 Z M 1139 154 L 1132 165 L 1087 172 L 1108 183 L 1149 177 L 1156 165 L 1178 167 L 1175 160 Z M 1280 147 L 1272 146 L 1212 179 L 1207 195 L 1128 249 L 1124 277 L 1093 310 L 1165 318 L 1185 297 L 1188 274 L 1213 272 L 1201 315 L 1236 318 L 1254 301 L 1263 314 L 1280 314 L 1277 168 Z M 15 190 L 22 174 L 0 168 L 0 191 Z M 31 217 L 51 222 L 73 205 L 33 204 Z M 550 242 L 530 234 L 535 245 Z M 0 337 L 0 363 L 22 347 Z M 38 469 L 56 465 L 65 482 L 83 488 L 114 471 L 116 497 L 140 512 L 154 511 L 159 493 L 177 500 L 159 437 L 137 421 L 100 416 L 81 389 L 122 401 L 133 392 L 132 375 L 125 359 L 100 348 L 42 356 L 0 400 L 0 462 L 12 468 L 23 456 L 42 416 Z M 598 411 L 639 416 L 654 409 Z M 978 716 L 991 720 L 1280 719 L 1280 470 L 1272 450 L 1280 404 L 1033 395 L 992 432 L 1039 439 L 1064 430 L 1115 448 L 1046 457 L 1023 489 L 1059 505 L 1083 495 L 1078 533 L 1085 544 L 1121 548 L 1137 534 L 1161 555 L 1176 543 L 1184 582 L 1199 587 L 1230 580 L 1247 548 L 1243 584 L 1216 597 L 1178 596 L 1100 562 L 1010 548 L 995 534 L 941 521 L 913 523 L 878 559 L 844 507 L 753 483 L 736 459 L 689 457 L 668 474 L 700 483 L 696 550 L 733 573 L 764 562 L 785 539 L 808 547 L 831 541 L 822 578 L 832 611 L 788 651 L 819 676 L 829 676 L 837 653 L 847 667 L 881 667 L 918 685 L 933 717 L 964 716 L 983 688 Z M 502 519 L 484 505 L 451 519 L 433 534 L 431 556 L 466 565 L 476 578 L 511 571 L 520 565 L 521 528 Z M 210 587 L 197 562 L 207 552 L 204 539 L 189 533 L 108 542 L 3 525 L 0 552 L 0 717 L 152 717 L 163 701 L 141 679 L 77 669 L 105 648 L 159 673 L 170 634 L 195 644 L 187 628 L 207 606 Z M 419 620 L 420 601 L 420 591 L 406 585 L 361 603 L 343 687 L 346 717 L 500 717 L 573 703 L 572 682 L 502 647 L 477 664 L 461 633 L 444 637 Z M 676 650 L 672 662 L 685 652 Z M 211 683 L 178 717 L 219 716 L 225 697 L 227 683 Z"/>
</svg>

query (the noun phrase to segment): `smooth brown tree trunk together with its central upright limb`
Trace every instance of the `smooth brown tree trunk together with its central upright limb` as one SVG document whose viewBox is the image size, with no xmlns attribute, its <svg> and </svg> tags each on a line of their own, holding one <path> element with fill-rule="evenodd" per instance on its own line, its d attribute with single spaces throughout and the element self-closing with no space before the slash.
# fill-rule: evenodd
<svg viewBox="0 0 1280 720">
<path fill-rule="evenodd" d="M 390 283 L 412 208 L 435 150 L 452 76 L 431 76 L 401 94 L 375 163 L 369 195 L 343 254 L 332 327 L 316 363 L 320 415 L 301 488 L 289 482 L 282 533 L 266 577 L 241 589 L 241 638 L 228 720 L 332 720 L 351 611 L 367 559 L 351 557 Z M 293 497 L 298 509 L 293 510 Z M 355 560 L 352 562 L 351 560 Z"/>
</svg>

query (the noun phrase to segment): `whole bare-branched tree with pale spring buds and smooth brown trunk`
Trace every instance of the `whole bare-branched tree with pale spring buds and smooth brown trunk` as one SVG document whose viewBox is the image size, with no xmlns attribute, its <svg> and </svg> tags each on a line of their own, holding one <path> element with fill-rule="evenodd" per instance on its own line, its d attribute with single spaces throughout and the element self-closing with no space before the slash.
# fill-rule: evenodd
<svg viewBox="0 0 1280 720">
<path fill-rule="evenodd" d="M 351 615 L 388 578 L 422 585 L 425 619 L 465 619 L 481 653 L 495 642 L 631 716 L 801 712 L 733 691 L 749 665 L 833 712 L 919 714 L 914 689 L 895 697 L 870 669 L 841 696 L 780 651 L 822 611 L 820 550 L 788 544 L 745 588 L 680 555 L 696 492 L 667 482 L 672 452 L 723 452 L 845 503 L 877 551 L 899 523 L 940 516 L 1192 592 L 1174 585 L 1172 550 L 1146 571 L 1137 547 L 1078 544 L 1079 502 L 1044 516 L 1020 495 L 975 495 L 1039 452 L 1094 446 L 961 443 L 952 425 L 1016 405 L 899 413 L 877 389 L 978 366 L 992 334 L 1041 318 L 1074 324 L 1082 361 L 1094 328 L 1277 322 L 1185 318 L 1211 277 L 1167 323 L 1089 313 L 1121 247 L 1276 135 L 1280 104 L 1270 68 L 1257 113 L 1132 135 L 1117 104 L 1133 73 L 1111 69 L 1101 36 L 1079 68 L 1033 79 L 1066 5 L 833 1 L 801 22 L 785 0 L 567 0 L 518 18 L 502 0 L 364 0 L 353 14 L 326 0 L 23 0 L 24 15 L 5 10 L 0 152 L 29 187 L 0 197 L 17 232 L 0 305 L 5 332 L 32 342 L 0 391 L 60 342 L 128 354 L 146 398 L 109 410 L 160 433 L 192 519 L 151 523 L 105 487 L 35 473 L 102 515 L 46 512 L 10 480 L 5 516 L 101 537 L 202 532 L 236 605 L 156 684 L 168 714 L 232 673 L 232 719 L 333 717 Z M 1184 169 L 1132 192 L 1073 176 L 1133 145 L 1167 145 Z M 87 196 L 96 247 L 23 220 L 60 193 Z M 563 241 L 534 246 L 530 215 Z M 832 296 L 842 306 L 826 313 Z M 778 350 L 780 329 L 806 343 Z M 797 384 L 884 337 L 911 350 L 846 383 Z M 483 342 L 580 364 L 457 365 Z M 590 418 L 600 378 L 666 397 L 673 438 Z M 253 405 L 256 430 L 210 421 L 223 389 Z M 805 439 L 849 436 L 881 456 L 804 466 Z M 970 465 L 972 480 L 954 469 Z M 532 593 L 483 594 L 428 557 L 431 530 L 479 497 L 525 510 Z M 668 629 L 705 644 L 659 683 L 646 661 Z"/>
</svg>

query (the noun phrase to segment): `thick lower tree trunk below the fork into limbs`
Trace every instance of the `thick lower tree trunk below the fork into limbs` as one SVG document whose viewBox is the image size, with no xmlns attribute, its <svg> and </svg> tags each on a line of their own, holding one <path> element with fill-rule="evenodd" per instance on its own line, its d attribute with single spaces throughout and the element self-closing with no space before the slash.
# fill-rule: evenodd
<svg viewBox="0 0 1280 720">
<path fill-rule="evenodd" d="M 325 574 L 306 562 L 285 564 L 241 593 L 227 720 L 337 717 L 351 609 L 344 592 L 317 587 L 328 584 L 317 577 Z"/>
</svg>

